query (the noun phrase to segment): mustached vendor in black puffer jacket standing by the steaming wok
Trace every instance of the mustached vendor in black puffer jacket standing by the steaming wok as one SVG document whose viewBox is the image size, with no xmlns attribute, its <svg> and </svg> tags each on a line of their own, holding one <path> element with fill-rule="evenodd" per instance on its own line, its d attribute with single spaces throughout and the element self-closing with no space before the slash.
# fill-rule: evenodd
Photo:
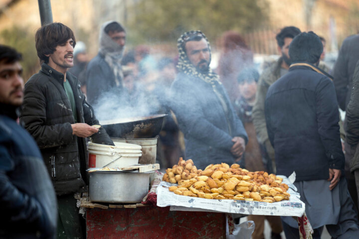
<svg viewBox="0 0 359 239">
<path fill-rule="evenodd" d="M 95 143 L 114 145 L 98 125 L 86 102 L 73 67 L 73 31 L 62 23 L 50 23 L 35 33 L 41 69 L 24 87 L 20 121 L 33 136 L 53 181 L 58 200 L 57 238 L 85 238 L 74 193 L 87 183 L 86 137 Z"/>
</svg>

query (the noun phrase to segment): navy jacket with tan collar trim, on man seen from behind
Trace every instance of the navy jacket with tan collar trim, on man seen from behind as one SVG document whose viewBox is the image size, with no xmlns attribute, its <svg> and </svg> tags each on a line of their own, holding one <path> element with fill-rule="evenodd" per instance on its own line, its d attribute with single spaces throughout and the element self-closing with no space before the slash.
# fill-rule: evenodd
<svg viewBox="0 0 359 239">
<path fill-rule="evenodd" d="M 269 87 L 265 116 L 277 174 L 295 171 L 297 181 L 306 181 L 328 179 L 329 168 L 344 169 L 338 103 L 329 77 L 292 66 Z"/>
</svg>

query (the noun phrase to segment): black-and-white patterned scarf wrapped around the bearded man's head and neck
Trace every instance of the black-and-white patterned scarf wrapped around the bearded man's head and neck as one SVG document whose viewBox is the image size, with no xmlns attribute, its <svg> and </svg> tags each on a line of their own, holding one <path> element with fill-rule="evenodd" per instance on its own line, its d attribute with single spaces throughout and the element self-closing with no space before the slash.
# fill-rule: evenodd
<svg viewBox="0 0 359 239">
<path fill-rule="evenodd" d="M 179 49 L 179 62 L 177 64 L 177 68 L 179 69 L 179 71 L 183 72 L 188 76 L 196 76 L 207 83 L 212 83 L 214 81 L 220 84 L 219 76 L 214 73 L 210 68 L 206 73 L 198 72 L 195 66 L 188 59 L 184 46 L 187 42 L 187 39 L 193 35 L 200 35 L 207 41 L 209 50 L 209 62 L 211 61 L 210 45 L 205 35 L 201 31 L 187 31 L 183 33 L 177 40 L 177 47 Z"/>
</svg>

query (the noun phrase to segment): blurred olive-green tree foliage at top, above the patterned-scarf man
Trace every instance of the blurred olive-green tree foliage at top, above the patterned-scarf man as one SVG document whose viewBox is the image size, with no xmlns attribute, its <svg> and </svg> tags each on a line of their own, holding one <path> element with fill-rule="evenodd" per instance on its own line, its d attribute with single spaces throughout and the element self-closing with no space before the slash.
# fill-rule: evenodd
<svg viewBox="0 0 359 239">
<path fill-rule="evenodd" d="M 215 39 L 226 30 L 248 32 L 266 24 L 266 0 L 142 0 L 132 5 L 130 34 L 145 41 L 174 41 L 184 31 L 201 30 Z"/>
</svg>

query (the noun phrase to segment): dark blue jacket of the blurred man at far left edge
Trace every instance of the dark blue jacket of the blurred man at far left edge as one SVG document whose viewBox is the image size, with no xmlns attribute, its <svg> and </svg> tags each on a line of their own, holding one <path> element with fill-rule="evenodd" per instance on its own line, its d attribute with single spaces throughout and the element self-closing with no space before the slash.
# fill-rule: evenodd
<svg viewBox="0 0 359 239">
<path fill-rule="evenodd" d="M 13 106 L 0 104 L 0 238 L 55 238 L 55 191 L 41 153 L 19 126 Z"/>
</svg>

